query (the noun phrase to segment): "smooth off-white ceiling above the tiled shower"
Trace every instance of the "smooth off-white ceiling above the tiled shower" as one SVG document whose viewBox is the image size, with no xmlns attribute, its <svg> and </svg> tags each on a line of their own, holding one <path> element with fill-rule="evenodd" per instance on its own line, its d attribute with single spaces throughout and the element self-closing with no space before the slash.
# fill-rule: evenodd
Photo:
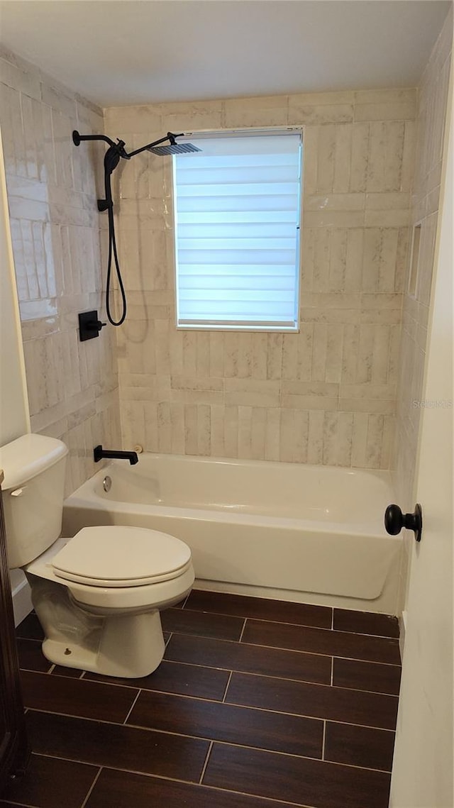
<svg viewBox="0 0 454 808">
<path fill-rule="evenodd" d="M 0 0 L 0 42 L 102 107 L 415 86 L 451 5 Z"/>
</svg>

